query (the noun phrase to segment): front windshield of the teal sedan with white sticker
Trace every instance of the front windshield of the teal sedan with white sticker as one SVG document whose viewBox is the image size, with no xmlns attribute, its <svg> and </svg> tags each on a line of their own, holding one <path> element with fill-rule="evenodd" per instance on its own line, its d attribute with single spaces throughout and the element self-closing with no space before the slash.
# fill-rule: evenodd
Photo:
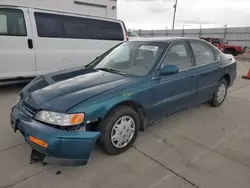
<svg viewBox="0 0 250 188">
<path fill-rule="evenodd" d="M 165 46 L 167 43 L 163 42 L 125 42 L 90 67 L 117 74 L 145 76 L 162 55 Z"/>
</svg>

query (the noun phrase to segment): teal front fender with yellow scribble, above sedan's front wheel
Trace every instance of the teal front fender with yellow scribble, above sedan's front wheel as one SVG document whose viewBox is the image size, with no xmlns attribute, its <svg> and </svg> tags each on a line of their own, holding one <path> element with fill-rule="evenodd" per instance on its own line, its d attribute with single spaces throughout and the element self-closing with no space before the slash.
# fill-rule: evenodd
<svg viewBox="0 0 250 188">
<path fill-rule="evenodd" d="M 95 122 L 106 114 L 115 106 L 125 103 L 134 102 L 145 109 L 151 105 L 151 96 L 153 93 L 148 92 L 151 87 L 151 77 L 143 77 L 139 80 L 131 82 L 129 85 L 117 87 L 109 92 L 83 101 L 69 109 L 69 113 L 85 113 L 85 123 Z M 145 110 L 146 111 L 146 110 Z"/>
</svg>

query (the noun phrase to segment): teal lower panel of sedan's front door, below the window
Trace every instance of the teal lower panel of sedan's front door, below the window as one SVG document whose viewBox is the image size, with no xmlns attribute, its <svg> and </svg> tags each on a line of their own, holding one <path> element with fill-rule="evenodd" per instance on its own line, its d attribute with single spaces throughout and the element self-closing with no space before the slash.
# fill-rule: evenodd
<svg viewBox="0 0 250 188">
<path fill-rule="evenodd" d="M 151 101 L 147 108 L 149 119 L 170 115 L 195 104 L 196 86 L 194 68 L 153 80 L 148 91 Z"/>
</svg>

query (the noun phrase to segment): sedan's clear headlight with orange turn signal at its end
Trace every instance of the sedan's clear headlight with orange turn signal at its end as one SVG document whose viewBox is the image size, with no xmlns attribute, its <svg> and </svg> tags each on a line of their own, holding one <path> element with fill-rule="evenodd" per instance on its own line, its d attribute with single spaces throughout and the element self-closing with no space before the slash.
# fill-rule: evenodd
<svg viewBox="0 0 250 188">
<path fill-rule="evenodd" d="M 81 124 L 84 120 L 84 114 L 63 114 L 57 112 L 40 111 L 36 115 L 35 119 L 59 126 L 72 126 Z"/>
</svg>

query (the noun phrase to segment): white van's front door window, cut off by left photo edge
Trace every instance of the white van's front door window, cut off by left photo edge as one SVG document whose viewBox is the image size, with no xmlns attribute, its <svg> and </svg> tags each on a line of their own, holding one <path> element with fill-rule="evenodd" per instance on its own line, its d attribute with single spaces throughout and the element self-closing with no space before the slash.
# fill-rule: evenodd
<svg viewBox="0 0 250 188">
<path fill-rule="evenodd" d="M 18 9 L 0 9 L 0 35 L 27 36 L 24 15 Z"/>
</svg>

